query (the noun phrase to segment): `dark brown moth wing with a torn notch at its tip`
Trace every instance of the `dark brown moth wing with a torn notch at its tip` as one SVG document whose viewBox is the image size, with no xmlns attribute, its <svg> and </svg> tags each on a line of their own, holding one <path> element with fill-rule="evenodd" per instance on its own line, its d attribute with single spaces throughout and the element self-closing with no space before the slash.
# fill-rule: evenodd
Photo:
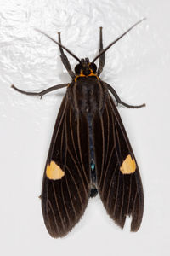
<svg viewBox="0 0 170 256">
<path fill-rule="evenodd" d="M 132 216 L 131 230 L 142 221 L 144 195 L 139 168 L 111 96 L 103 113 L 94 116 L 94 153 L 99 195 L 106 211 L 123 228 Z"/>
</svg>

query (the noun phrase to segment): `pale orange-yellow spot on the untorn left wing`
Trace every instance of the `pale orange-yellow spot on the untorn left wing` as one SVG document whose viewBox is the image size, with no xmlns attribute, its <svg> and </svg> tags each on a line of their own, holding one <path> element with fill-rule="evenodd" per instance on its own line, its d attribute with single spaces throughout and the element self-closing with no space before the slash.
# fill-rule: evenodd
<svg viewBox="0 0 170 256">
<path fill-rule="evenodd" d="M 65 176 L 65 172 L 54 161 L 51 161 L 47 166 L 46 175 L 49 179 L 57 180 Z"/>
</svg>

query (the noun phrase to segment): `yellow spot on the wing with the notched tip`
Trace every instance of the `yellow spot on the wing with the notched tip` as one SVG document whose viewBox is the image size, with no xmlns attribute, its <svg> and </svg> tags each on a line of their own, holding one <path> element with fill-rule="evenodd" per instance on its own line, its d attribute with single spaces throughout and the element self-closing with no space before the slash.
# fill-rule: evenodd
<svg viewBox="0 0 170 256">
<path fill-rule="evenodd" d="M 131 174 L 136 171 L 135 160 L 132 159 L 130 154 L 128 154 L 126 159 L 122 162 L 120 170 L 123 174 Z"/>
</svg>

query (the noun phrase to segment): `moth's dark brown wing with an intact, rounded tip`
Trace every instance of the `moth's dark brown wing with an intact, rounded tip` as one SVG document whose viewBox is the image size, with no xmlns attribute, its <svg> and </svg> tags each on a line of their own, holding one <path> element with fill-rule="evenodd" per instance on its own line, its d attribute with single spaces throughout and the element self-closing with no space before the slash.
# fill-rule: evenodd
<svg viewBox="0 0 170 256">
<path fill-rule="evenodd" d="M 88 122 L 65 96 L 54 126 L 42 183 L 42 214 L 53 237 L 65 236 L 81 218 L 89 197 Z"/>
</svg>

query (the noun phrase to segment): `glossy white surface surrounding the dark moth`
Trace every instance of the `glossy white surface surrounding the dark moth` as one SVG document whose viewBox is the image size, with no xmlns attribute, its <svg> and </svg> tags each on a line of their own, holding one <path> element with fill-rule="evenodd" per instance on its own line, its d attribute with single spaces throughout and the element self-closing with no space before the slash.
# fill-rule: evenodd
<svg viewBox="0 0 170 256">
<path fill-rule="evenodd" d="M 0 254 L 1 255 L 170 255 L 169 0 L 13 0 L 0 1 Z M 54 122 L 65 89 L 42 100 L 10 88 L 40 91 L 71 81 L 57 39 L 78 57 L 98 52 L 99 26 L 104 45 L 147 17 L 106 53 L 101 78 L 124 102 L 146 108 L 119 108 L 144 184 L 144 218 L 130 233 L 120 230 L 99 197 L 89 200 L 82 220 L 62 239 L 43 224 L 42 172 Z M 68 55 L 72 67 L 77 62 Z"/>
</svg>

